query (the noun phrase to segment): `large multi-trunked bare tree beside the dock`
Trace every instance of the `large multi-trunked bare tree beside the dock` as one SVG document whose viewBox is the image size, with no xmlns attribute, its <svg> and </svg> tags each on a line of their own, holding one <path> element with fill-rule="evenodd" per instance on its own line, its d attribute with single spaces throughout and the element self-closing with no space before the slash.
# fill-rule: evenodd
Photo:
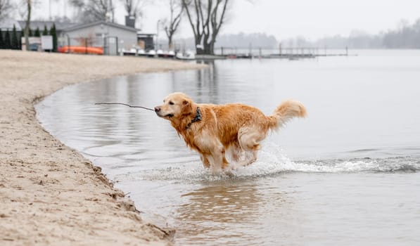
<svg viewBox="0 0 420 246">
<path fill-rule="evenodd" d="M 189 23 L 193 30 L 198 54 L 213 54 L 217 34 L 226 18 L 229 0 L 182 0 Z"/>
</svg>

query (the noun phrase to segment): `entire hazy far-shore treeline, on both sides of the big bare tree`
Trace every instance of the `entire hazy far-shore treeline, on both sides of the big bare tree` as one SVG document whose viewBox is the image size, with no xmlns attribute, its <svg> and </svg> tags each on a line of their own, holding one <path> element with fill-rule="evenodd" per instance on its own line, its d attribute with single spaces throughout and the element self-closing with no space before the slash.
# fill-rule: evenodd
<svg viewBox="0 0 420 246">
<path fill-rule="evenodd" d="M 194 48 L 194 39 L 176 39 L 177 49 Z M 420 19 L 412 25 L 401 21 L 395 30 L 379 34 L 367 34 L 352 31 L 348 37 L 336 35 L 311 41 L 305 37 L 295 37 L 278 41 L 265 33 L 222 34 L 216 40 L 215 47 L 220 48 L 279 48 L 282 47 L 317 47 L 317 48 L 420 48 Z"/>
</svg>

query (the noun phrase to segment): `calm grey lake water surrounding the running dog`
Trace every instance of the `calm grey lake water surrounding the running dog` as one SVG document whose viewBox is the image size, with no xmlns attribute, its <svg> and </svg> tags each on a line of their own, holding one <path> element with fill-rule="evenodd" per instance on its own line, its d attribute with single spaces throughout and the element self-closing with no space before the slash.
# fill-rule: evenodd
<svg viewBox="0 0 420 246">
<path fill-rule="evenodd" d="M 217 60 L 205 70 L 68 86 L 44 127 L 95 164 L 177 245 L 419 245 L 420 51 L 313 60 Z M 172 91 L 271 114 L 302 101 L 250 167 L 212 176 L 151 111 Z"/>
</svg>

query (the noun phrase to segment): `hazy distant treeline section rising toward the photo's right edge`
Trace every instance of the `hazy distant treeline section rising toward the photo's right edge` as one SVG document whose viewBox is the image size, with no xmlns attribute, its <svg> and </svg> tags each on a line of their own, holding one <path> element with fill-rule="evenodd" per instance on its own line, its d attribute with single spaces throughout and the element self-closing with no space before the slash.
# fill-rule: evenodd
<svg viewBox="0 0 420 246">
<path fill-rule="evenodd" d="M 349 37 L 336 35 L 325 37 L 317 41 L 309 41 L 304 37 L 285 39 L 283 46 L 310 46 L 326 48 L 420 48 L 420 19 L 414 24 L 400 22 L 399 27 L 379 34 L 366 34 L 353 31 Z"/>
</svg>

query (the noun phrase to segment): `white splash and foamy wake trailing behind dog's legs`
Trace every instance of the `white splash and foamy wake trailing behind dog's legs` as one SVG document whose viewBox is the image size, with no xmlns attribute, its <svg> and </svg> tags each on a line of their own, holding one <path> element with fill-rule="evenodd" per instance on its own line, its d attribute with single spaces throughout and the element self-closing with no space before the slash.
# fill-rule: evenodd
<svg viewBox="0 0 420 246">
<path fill-rule="evenodd" d="M 266 145 L 258 160 L 248 167 L 228 169 L 213 175 L 201 162 L 183 162 L 173 167 L 148 169 L 115 176 L 119 180 L 167 180 L 167 181 L 223 181 L 230 179 L 255 179 L 290 172 L 307 173 L 356 173 L 356 172 L 416 172 L 420 160 L 415 157 L 354 158 L 350 160 L 303 160 L 293 161 L 276 145 Z"/>
</svg>

